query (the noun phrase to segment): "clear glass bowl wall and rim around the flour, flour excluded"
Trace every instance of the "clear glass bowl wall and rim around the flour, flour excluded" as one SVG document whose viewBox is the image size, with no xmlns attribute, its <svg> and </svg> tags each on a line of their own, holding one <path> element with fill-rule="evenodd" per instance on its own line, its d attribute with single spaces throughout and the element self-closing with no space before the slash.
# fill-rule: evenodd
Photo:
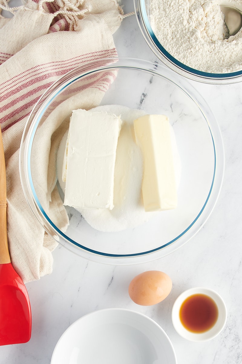
<svg viewBox="0 0 242 364">
<path fill-rule="evenodd" d="M 134 0 L 136 17 L 148 46 L 166 66 L 186 78 L 203 83 L 231 84 L 242 80 L 242 70 L 230 73 L 202 72 L 186 66 L 186 64 L 179 62 L 178 59 L 169 54 L 157 39 L 152 29 L 149 17 L 149 4 L 150 0 Z M 242 7 L 240 10 L 242 11 Z"/>
</svg>

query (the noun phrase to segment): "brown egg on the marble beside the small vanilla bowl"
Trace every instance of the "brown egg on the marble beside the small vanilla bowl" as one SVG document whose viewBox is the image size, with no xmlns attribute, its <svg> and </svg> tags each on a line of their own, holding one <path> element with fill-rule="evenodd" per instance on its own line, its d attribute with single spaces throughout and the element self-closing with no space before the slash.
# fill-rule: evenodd
<svg viewBox="0 0 242 364">
<path fill-rule="evenodd" d="M 167 274 L 159 270 L 148 270 L 132 279 L 128 293 L 138 305 L 151 306 L 163 301 L 171 289 L 172 280 Z"/>
</svg>

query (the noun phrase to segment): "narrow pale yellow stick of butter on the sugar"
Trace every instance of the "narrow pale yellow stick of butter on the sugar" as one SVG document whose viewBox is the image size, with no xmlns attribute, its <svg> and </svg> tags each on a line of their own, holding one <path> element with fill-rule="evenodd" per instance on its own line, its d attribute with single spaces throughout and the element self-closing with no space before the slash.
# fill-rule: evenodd
<svg viewBox="0 0 242 364">
<path fill-rule="evenodd" d="M 142 194 L 145 211 L 175 209 L 177 186 L 169 119 L 165 115 L 144 115 L 134 120 L 134 130 L 144 159 Z"/>
</svg>

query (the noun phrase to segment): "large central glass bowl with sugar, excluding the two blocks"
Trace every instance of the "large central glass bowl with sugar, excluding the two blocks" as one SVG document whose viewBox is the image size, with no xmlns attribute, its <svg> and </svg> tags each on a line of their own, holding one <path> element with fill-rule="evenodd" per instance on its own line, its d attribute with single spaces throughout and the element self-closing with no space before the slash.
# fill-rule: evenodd
<svg viewBox="0 0 242 364">
<path fill-rule="evenodd" d="M 78 109 L 122 120 L 112 208 L 64 205 L 66 140 Z M 177 189 L 171 210 L 144 209 L 143 154 L 134 133 L 134 120 L 143 115 L 169 119 Z M 89 143 L 83 135 L 80 143 Z M 20 146 L 22 188 L 46 233 L 71 252 L 106 264 L 156 260 L 190 240 L 212 213 L 223 170 L 220 128 L 202 96 L 169 68 L 139 59 L 101 59 L 64 75 L 34 106 Z M 78 175 L 84 169 L 77 164 L 71 182 Z M 107 184 L 98 171 L 92 181 Z"/>
</svg>

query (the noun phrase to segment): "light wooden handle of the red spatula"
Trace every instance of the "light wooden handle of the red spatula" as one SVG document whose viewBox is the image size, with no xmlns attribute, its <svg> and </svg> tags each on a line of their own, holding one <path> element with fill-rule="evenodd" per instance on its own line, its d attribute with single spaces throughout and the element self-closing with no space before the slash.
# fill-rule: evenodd
<svg viewBox="0 0 242 364">
<path fill-rule="evenodd" d="M 7 238 L 6 169 L 2 133 L 0 132 L 0 264 L 10 263 Z"/>
</svg>

